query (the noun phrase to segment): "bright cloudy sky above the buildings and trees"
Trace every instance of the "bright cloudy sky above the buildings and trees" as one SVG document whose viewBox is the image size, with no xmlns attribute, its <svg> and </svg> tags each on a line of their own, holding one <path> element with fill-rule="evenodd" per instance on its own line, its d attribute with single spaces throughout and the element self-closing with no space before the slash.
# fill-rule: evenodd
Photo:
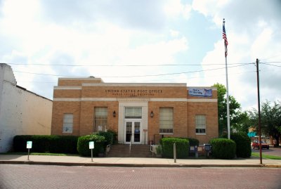
<svg viewBox="0 0 281 189">
<path fill-rule="evenodd" d="M 280 0 L 0 0 L 0 63 L 53 99 L 59 77 L 226 86 L 242 110 L 281 100 Z"/>
</svg>

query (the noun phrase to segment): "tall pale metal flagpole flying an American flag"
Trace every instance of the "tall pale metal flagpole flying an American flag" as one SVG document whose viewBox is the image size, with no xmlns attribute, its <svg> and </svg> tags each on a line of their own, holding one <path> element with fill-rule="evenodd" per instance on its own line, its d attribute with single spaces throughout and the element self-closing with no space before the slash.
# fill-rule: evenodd
<svg viewBox="0 0 281 189">
<path fill-rule="evenodd" d="M 226 28 L 225 28 L 225 19 L 223 18 L 223 32 L 225 34 L 224 39 L 224 48 L 225 48 L 225 57 L 226 57 L 226 112 L 227 112 L 227 117 L 228 117 L 228 139 L 230 139 L 230 115 L 229 115 L 229 94 L 228 94 L 228 41 L 226 38 Z"/>
</svg>

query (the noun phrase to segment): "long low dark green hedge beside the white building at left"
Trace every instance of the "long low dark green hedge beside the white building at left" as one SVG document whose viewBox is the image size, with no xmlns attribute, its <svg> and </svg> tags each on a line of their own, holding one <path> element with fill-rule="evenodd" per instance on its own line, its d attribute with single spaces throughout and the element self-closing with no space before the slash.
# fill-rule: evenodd
<svg viewBox="0 0 281 189">
<path fill-rule="evenodd" d="M 27 152 L 26 143 L 32 141 L 32 152 L 77 153 L 77 136 L 18 135 L 13 138 L 15 152 Z"/>
</svg>

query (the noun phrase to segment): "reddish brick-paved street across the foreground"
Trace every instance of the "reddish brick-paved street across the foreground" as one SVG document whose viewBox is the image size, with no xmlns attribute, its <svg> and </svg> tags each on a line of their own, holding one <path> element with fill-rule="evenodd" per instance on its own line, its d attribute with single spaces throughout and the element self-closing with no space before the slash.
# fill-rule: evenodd
<svg viewBox="0 0 281 189">
<path fill-rule="evenodd" d="M 281 188 L 281 169 L 0 164 L 0 188 Z"/>
</svg>

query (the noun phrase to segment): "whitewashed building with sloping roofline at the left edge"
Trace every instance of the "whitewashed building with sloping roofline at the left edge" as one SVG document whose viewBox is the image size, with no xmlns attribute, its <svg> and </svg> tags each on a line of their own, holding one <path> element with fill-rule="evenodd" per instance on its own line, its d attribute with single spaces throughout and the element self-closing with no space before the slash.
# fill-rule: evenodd
<svg viewBox="0 0 281 189">
<path fill-rule="evenodd" d="M 0 152 L 15 135 L 49 135 L 53 101 L 17 85 L 11 66 L 0 64 Z"/>
</svg>

